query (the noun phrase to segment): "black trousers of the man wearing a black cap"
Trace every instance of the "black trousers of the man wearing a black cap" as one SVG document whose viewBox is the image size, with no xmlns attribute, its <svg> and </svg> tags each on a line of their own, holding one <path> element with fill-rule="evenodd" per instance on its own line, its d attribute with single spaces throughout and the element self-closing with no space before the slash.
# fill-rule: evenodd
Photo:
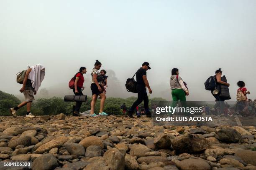
<svg viewBox="0 0 256 170">
<path fill-rule="evenodd" d="M 137 85 L 136 89 L 138 91 L 138 99 L 133 103 L 133 105 L 130 108 L 130 112 L 134 112 L 135 108 L 141 104 L 142 101 L 144 101 L 144 108 L 145 112 L 148 115 L 149 114 L 149 109 L 148 109 L 148 95 L 147 91 L 144 85 Z"/>
</svg>

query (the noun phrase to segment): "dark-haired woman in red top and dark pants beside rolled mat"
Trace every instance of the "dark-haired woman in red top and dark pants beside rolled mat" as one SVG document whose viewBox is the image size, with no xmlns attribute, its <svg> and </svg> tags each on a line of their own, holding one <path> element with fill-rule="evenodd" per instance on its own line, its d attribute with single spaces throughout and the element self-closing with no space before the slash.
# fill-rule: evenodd
<svg viewBox="0 0 256 170">
<path fill-rule="evenodd" d="M 84 74 L 86 73 L 86 67 L 80 67 L 79 72 L 74 75 L 74 95 L 83 95 L 82 90 L 84 90 Z M 74 107 L 73 116 L 79 116 L 79 110 L 82 102 L 76 102 Z"/>
</svg>

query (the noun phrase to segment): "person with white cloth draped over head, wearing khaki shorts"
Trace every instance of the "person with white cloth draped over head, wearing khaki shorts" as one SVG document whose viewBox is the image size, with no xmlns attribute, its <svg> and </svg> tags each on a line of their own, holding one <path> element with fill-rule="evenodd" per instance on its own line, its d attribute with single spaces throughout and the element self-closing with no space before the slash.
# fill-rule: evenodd
<svg viewBox="0 0 256 170">
<path fill-rule="evenodd" d="M 35 117 L 31 113 L 31 104 L 35 100 L 34 95 L 38 92 L 38 88 L 41 86 L 41 82 L 44 80 L 45 67 L 41 64 L 32 66 L 26 71 L 26 75 L 23 80 L 23 85 L 20 92 L 23 92 L 25 101 L 21 102 L 18 106 L 10 108 L 10 112 L 13 117 L 16 117 L 16 111 L 25 105 L 27 105 L 26 117 Z"/>
</svg>

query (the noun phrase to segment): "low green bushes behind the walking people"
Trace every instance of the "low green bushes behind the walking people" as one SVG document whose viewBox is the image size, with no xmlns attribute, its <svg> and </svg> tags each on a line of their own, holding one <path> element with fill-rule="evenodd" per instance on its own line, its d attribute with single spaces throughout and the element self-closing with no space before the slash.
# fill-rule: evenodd
<svg viewBox="0 0 256 170">
<path fill-rule="evenodd" d="M 119 97 L 107 97 L 105 101 L 104 111 L 108 114 L 121 115 L 122 110 L 120 106 L 125 103 L 127 107 L 131 107 L 136 97 L 128 97 L 126 99 Z M 86 102 L 83 102 L 80 112 L 90 110 L 90 102 L 92 98 L 88 97 Z M 149 106 L 151 106 L 151 101 L 153 100 L 164 100 L 163 98 L 152 98 L 149 100 Z M 14 95 L 0 91 L 0 115 L 8 116 L 10 115 L 9 109 L 11 107 L 17 106 L 21 101 Z M 57 115 L 59 113 L 64 113 L 66 115 L 72 114 L 72 107 L 75 102 L 64 102 L 60 97 L 51 97 L 49 99 L 40 98 L 33 101 L 31 112 L 33 115 Z M 139 105 L 139 108 L 143 108 L 143 102 Z M 98 113 L 100 109 L 100 99 L 96 102 L 95 113 Z M 26 106 L 20 108 L 17 115 L 26 115 Z"/>
</svg>

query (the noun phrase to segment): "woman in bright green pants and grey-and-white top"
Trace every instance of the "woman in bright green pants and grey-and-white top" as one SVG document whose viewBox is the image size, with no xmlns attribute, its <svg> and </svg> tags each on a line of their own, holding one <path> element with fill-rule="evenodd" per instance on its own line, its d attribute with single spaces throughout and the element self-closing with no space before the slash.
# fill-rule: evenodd
<svg viewBox="0 0 256 170">
<path fill-rule="evenodd" d="M 170 85 L 172 89 L 172 107 L 177 105 L 177 101 L 181 101 L 182 106 L 186 105 L 186 95 L 189 95 L 187 87 L 184 85 L 184 82 L 181 77 L 179 77 L 179 69 L 172 69 L 172 76 L 170 78 Z"/>
</svg>

